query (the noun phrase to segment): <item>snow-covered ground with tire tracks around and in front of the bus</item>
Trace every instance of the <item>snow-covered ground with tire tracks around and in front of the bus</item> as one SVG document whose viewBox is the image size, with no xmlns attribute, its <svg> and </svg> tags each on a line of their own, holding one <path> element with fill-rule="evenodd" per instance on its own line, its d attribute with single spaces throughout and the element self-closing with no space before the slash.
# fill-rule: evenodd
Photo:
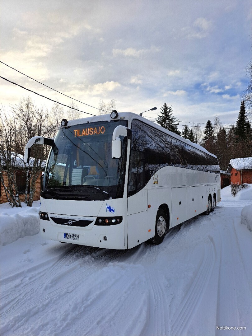
<svg viewBox="0 0 252 336">
<path fill-rule="evenodd" d="M 1 335 L 252 335 L 252 185 L 235 198 L 224 188 L 209 216 L 128 251 L 32 236 L 24 217 L 37 206 L 0 206 L 30 234 L 8 244 L 1 229 Z"/>
</svg>

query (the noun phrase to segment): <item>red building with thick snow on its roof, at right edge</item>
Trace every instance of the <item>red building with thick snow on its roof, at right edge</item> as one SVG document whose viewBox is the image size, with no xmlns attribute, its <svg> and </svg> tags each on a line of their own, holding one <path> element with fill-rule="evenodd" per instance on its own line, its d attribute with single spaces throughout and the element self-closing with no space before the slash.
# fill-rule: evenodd
<svg viewBox="0 0 252 336">
<path fill-rule="evenodd" d="M 252 158 L 230 160 L 227 173 L 231 174 L 233 184 L 252 183 Z"/>
</svg>

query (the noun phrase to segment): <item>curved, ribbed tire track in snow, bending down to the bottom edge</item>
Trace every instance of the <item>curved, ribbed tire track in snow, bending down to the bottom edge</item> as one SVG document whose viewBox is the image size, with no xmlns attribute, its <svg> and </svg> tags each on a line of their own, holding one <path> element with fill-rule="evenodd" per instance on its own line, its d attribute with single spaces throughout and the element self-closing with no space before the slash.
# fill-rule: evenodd
<svg viewBox="0 0 252 336">
<path fill-rule="evenodd" d="M 205 293 L 207 284 L 211 277 L 216 259 L 216 250 L 214 242 L 210 236 L 203 236 L 204 240 L 204 258 L 199 267 L 197 275 L 186 295 L 181 301 L 179 307 L 172 316 L 174 321 L 171 326 L 171 335 L 182 335 L 195 314 L 197 306 L 200 304 Z"/>
</svg>

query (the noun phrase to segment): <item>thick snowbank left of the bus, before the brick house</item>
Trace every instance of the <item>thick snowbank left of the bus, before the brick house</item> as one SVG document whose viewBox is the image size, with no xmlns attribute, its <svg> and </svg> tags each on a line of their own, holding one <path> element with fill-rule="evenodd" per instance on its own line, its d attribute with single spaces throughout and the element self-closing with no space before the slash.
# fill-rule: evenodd
<svg viewBox="0 0 252 336">
<path fill-rule="evenodd" d="M 18 208 L 13 208 L 16 209 Z M 8 210 L 0 213 L 0 245 L 7 245 L 18 238 L 39 233 L 39 207 L 31 207 L 14 214 L 11 214 L 11 209 Z"/>
</svg>

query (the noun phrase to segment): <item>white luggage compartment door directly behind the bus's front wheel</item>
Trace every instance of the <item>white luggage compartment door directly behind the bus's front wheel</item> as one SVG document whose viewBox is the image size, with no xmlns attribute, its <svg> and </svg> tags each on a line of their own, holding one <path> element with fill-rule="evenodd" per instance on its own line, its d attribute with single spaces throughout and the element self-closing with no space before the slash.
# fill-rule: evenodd
<svg viewBox="0 0 252 336">
<path fill-rule="evenodd" d="M 187 188 L 171 188 L 171 227 L 187 219 Z"/>
</svg>

